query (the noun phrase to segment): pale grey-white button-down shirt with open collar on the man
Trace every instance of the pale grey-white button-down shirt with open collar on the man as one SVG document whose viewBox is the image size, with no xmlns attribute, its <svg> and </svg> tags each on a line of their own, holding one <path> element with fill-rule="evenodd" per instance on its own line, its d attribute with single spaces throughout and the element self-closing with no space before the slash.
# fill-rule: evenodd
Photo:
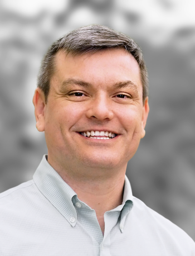
<svg viewBox="0 0 195 256">
<path fill-rule="evenodd" d="M 125 176 L 123 203 L 104 214 L 104 236 L 95 210 L 48 164 L 33 180 L 0 194 L 1 256 L 194 256 L 194 241 L 134 197 Z"/>
</svg>

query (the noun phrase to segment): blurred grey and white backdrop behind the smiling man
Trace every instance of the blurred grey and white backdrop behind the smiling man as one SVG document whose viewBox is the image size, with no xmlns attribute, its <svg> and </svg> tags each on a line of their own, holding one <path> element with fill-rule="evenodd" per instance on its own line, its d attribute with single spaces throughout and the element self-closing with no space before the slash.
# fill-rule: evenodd
<svg viewBox="0 0 195 256">
<path fill-rule="evenodd" d="M 32 179 L 43 154 L 33 92 L 43 54 L 77 27 L 98 23 L 141 46 L 149 72 L 145 138 L 128 163 L 133 195 L 195 240 L 195 2 L 0 1 L 0 192 Z"/>
</svg>

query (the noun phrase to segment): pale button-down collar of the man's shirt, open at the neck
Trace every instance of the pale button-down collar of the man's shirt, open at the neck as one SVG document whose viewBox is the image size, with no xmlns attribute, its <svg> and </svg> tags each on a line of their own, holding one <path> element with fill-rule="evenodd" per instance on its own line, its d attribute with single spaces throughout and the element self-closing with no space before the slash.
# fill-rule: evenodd
<svg viewBox="0 0 195 256">
<path fill-rule="evenodd" d="M 77 194 L 75 191 L 61 178 L 55 169 L 47 162 L 47 155 L 43 155 L 40 165 L 33 175 L 33 181 L 40 192 L 52 203 L 53 206 L 69 221 L 70 225 L 75 226 L 77 220 L 77 212 L 72 198 Z M 76 199 L 75 198 L 75 199 Z M 125 216 L 133 207 L 133 195 L 128 177 L 125 175 L 123 203 L 111 211 L 121 211 L 121 222 L 125 221 Z M 122 211 L 123 210 L 123 211 Z M 122 227 L 124 224 L 122 225 Z M 123 229 L 122 229 L 123 230 Z M 121 231 L 122 231 L 121 230 Z"/>
</svg>

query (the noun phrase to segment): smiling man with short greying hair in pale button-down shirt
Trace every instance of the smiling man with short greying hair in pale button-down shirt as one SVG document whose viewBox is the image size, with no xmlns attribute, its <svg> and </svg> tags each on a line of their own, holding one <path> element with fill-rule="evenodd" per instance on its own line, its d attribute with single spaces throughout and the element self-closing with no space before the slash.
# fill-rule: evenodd
<svg viewBox="0 0 195 256">
<path fill-rule="evenodd" d="M 92 25 L 57 40 L 33 97 L 48 154 L 1 194 L 0 255 L 195 255 L 125 176 L 145 135 L 147 69 L 128 36 Z"/>
</svg>

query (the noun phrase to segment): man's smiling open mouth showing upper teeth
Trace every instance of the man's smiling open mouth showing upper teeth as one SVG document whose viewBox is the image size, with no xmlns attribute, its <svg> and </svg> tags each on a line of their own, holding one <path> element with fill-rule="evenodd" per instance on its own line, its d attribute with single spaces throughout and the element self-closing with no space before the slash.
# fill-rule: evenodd
<svg viewBox="0 0 195 256">
<path fill-rule="evenodd" d="M 96 140 L 110 140 L 114 139 L 118 134 L 110 131 L 83 131 L 79 132 L 82 136 Z"/>
</svg>

